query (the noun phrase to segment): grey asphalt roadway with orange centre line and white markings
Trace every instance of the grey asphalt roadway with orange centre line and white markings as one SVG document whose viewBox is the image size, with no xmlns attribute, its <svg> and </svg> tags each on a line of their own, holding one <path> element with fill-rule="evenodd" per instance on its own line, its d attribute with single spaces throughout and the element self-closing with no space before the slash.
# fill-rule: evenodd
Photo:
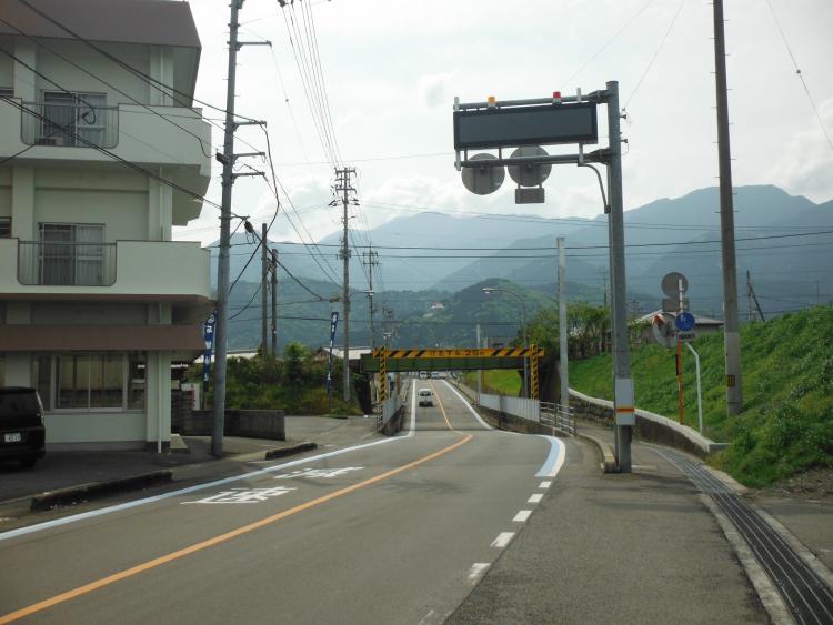
<svg viewBox="0 0 833 625">
<path fill-rule="evenodd" d="M 397 437 L 0 534 L 0 623 L 442 622 L 565 452 L 488 429 L 444 382 L 415 385 L 435 405 Z"/>
</svg>

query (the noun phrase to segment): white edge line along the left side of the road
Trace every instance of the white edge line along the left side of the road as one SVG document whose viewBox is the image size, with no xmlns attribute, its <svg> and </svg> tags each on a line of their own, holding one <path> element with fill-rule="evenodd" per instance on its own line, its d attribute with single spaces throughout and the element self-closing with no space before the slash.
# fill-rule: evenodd
<svg viewBox="0 0 833 625">
<path fill-rule="evenodd" d="M 77 523 L 79 521 L 83 521 L 86 518 L 94 518 L 97 516 L 103 516 L 106 514 L 110 514 L 113 512 L 119 512 L 122 510 L 129 510 L 131 507 L 138 507 L 140 505 L 151 504 L 155 502 L 160 502 L 163 500 L 168 500 L 171 497 L 178 497 L 180 495 L 187 495 L 189 493 L 195 493 L 198 491 L 204 491 L 208 488 L 213 488 L 215 486 L 222 486 L 224 484 L 230 484 L 232 482 L 239 482 L 241 480 L 251 480 L 252 477 L 258 477 L 260 475 L 265 475 L 269 473 L 275 473 L 278 471 L 283 471 L 284 468 L 290 468 L 292 466 L 298 466 L 301 464 L 308 464 L 311 462 L 317 462 L 323 458 L 334 457 L 342 454 L 347 454 L 350 452 L 355 452 L 359 450 L 367 450 L 368 447 L 374 447 L 377 445 L 384 445 L 387 443 L 393 443 L 395 441 L 404 441 L 407 438 L 410 438 L 414 434 L 414 423 L 413 423 L 413 412 L 411 412 L 411 430 L 408 432 L 404 436 L 391 436 L 390 438 L 384 438 L 382 441 L 373 441 L 372 443 L 364 443 L 361 445 L 355 445 L 353 447 L 344 447 L 343 450 L 335 450 L 334 452 L 327 452 L 323 454 L 318 454 L 310 457 L 304 457 L 300 460 L 293 460 L 291 462 L 284 462 L 283 464 L 278 464 L 274 466 L 268 466 L 265 468 L 261 468 L 260 471 L 253 471 L 251 473 L 242 473 L 240 475 L 232 475 L 230 477 L 223 477 L 222 480 L 215 480 L 214 482 L 207 482 L 204 484 L 195 484 L 194 486 L 189 486 L 187 488 L 180 488 L 178 491 L 171 491 L 169 493 L 162 493 L 161 495 L 154 495 L 152 497 L 144 497 L 142 500 L 134 500 L 132 502 L 124 502 L 122 504 L 102 507 L 98 510 L 91 510 L 89 512 L 82 512 L 80 514 L 73 514 L 70 516 L 64 516 L 62 518 L 56 518 L 52 521 L 46 521 L 43 523 L 37 523 L 34 525 L 28 525 L 27 527 L 19 527 L 17 530 L 9 530 L 8 532 L 0 533 L 0 542 L 1 541 L 8 541 L 10 538 L 17 538 L 18 536 L 24 536 L 26 534 L 33 534 L 36 532 L 42 532 L 44 530 L 49 530 L 51 527 L 59 527 L 61 525 L 69 525 L 70 523 Z"/>
</svg>

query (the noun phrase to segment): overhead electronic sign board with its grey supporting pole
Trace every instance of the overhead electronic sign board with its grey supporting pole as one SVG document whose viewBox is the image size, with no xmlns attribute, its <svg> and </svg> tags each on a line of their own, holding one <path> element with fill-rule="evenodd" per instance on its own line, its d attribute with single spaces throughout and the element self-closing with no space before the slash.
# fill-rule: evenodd
<svg viewBox="0 0 833 625">
<path fill-rule="evenodd" d="M 462 170 L 465 187 L 480 195 L 493 193 L 503 183 L 504 168 L 518 184 L 515 203 L 543 203 L 542 183 L 554 164 L 593 169 L 602 192 L 604 214 L 610 229 L 610 265 L 614 284 L 613 377 L 616 413 L 615 453 L 619 470 L 631 472 L 631 441 L 635 424 L 631 355 L 628 346 L 628 303 L 624 266 L 624 218 L 622 198 L 622 135 L 619 83 L 582 95 L 505 100 L 490 97 L 485 102 L 462 103 L 454 99 L 454 165 Z M 585 145 L 599 142 L 598 108 L 608 115 L 608 147 L 585 152 Z M 543 145 L 578 145 L 578 153 L 549 154 Z M 509 157 L 503 150 L 513 148 Z M 491 150 L 469 155 L 470 150 Z M 493 152 L 496 152 L 494 154 Z M 592 163 L 608 167 L 608 194 L 602 174 Z"/>
</svg>

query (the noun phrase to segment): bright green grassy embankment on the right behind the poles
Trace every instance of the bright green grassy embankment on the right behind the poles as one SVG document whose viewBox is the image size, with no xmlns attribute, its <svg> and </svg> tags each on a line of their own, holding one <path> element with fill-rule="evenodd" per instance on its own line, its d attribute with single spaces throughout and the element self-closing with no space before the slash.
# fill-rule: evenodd
<svg viewBox="0 0 833 625">
<path fill-rule="evenodd" d="M 833 466 L 833 306 L 742 327 L 744 411 L 725 413 L 723 335 L 697 339 L 704 434 L 730 443 L 712 462 L 749 486 Z M 675 419 L 674 353 L 658 345 L 632 352 L 639 407 Z M 685 423 L 697 426 L 694 359 L 685 351 Z M 570 365 L 570 385 L 612 399 L 611 355 Z"/>
</svg>

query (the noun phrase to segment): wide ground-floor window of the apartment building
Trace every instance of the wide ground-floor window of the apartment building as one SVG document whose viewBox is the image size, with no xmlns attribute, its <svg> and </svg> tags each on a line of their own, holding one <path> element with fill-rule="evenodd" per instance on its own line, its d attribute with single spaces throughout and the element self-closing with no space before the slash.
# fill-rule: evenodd
<svg viewBox="0 0 833 625">
<path fill-rule="evenodd" d="M 143 354 L 62 354 L 33 361 L 46 410 L 142 410 Z"/>
</svg>

